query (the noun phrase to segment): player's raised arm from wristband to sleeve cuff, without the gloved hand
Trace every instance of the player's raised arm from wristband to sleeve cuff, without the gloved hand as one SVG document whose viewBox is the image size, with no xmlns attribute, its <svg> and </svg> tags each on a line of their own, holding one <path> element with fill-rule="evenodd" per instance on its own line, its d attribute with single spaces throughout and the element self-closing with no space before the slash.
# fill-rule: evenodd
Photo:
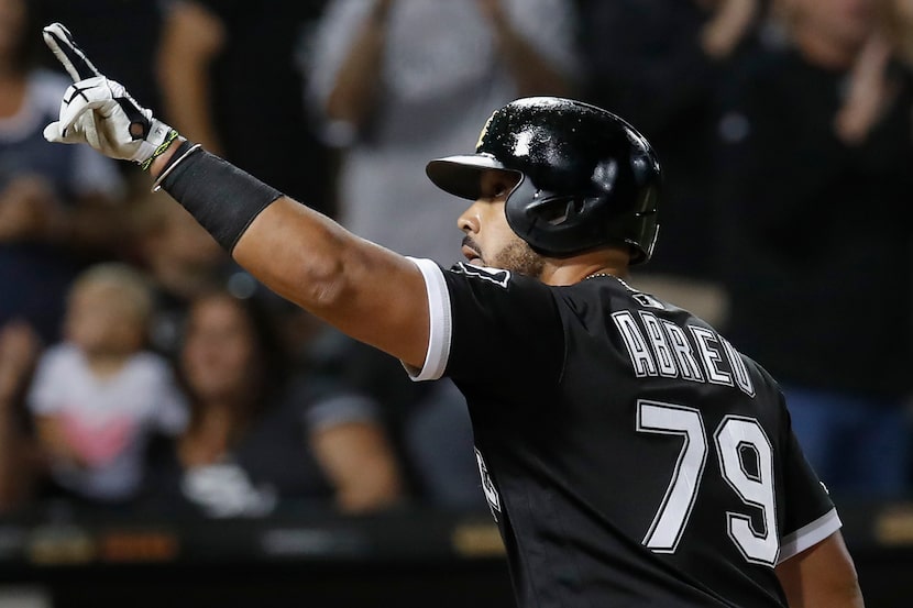
<svg viewBox="0 0 913 608">
<path fill-rule="evenodd" d="M 172 150 L 174 148 L 174 150 Z M 172 146 L 153 176 L 234 259 L 270 289 L 349 335 L 420 367 L 428 345 L 425 281 L 417 267 L 188 146 Z M 168 162 L 185 158 L 168 165 Z"/>
</svg>

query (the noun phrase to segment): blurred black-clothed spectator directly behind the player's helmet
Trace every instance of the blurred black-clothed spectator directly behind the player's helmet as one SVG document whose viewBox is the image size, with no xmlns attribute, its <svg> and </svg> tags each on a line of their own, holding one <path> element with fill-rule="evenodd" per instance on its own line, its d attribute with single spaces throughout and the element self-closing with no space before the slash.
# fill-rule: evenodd
<svg viewBox="0 0 913 608">
<path fill-rule="evenodd" d="M 632 281 L 719 323 L 712 151 L 717 88 L 766 0 L 584 0 L 584 99 L 634 123 L 662 159 L 662 237 Z"/>
</svg>

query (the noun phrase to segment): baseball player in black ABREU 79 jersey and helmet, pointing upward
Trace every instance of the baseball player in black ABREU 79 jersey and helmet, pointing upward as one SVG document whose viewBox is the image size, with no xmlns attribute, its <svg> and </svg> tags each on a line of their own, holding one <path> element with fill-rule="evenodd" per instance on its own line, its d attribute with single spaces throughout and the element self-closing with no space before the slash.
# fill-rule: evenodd
<svg viewBox="0 0 913 608">
<path fill-rule="evenodd" d="M 458 220 L 468 263 L 443 269 L 185 141 L 64 26 L 45 38 L 75 81 L 50 141 L 141 164 L 272 289 L 416 380 L 455 382 L 519 606 L 862 606 L 776 382 L 624 281 L 653 250 L 661 180 L 625 121 L 520 99 L 492 114 L 474 154 L 429 163 L 433 183 L 473 201 Z"/>
</svg>

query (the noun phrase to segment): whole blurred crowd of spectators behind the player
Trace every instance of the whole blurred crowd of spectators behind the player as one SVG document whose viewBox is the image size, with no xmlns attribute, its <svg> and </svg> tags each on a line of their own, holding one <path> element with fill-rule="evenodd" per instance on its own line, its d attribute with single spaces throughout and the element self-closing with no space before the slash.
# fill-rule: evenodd
<svg viewBox="0 0 913 608">
<path fill-rule="evenodd" d="M 485 509 L 452 385 L 44 141 L 52 21 L 188 139 L 444 266 L 462 207 L 428 159 L 517 97 L 618 113 L 666 178 L 632 284 L 778 378 L 833 493 L 912 494 L 913 0 L 0 0 L 0 512 Z"/>
</svg>

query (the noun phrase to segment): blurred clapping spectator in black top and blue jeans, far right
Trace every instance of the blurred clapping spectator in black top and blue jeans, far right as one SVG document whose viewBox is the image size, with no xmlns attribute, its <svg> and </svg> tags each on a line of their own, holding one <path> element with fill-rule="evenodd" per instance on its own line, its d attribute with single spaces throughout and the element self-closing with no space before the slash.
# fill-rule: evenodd
<svg viewBox="0 0 913 608">
<path fill-rule="evenodd" d="M 913 87 L 879 0 L 782 0 L 787 44 L 741 59 L 717 165 L 729 334 L 780 379 L 836 491 L 909 489 Z"/>
</svg>

